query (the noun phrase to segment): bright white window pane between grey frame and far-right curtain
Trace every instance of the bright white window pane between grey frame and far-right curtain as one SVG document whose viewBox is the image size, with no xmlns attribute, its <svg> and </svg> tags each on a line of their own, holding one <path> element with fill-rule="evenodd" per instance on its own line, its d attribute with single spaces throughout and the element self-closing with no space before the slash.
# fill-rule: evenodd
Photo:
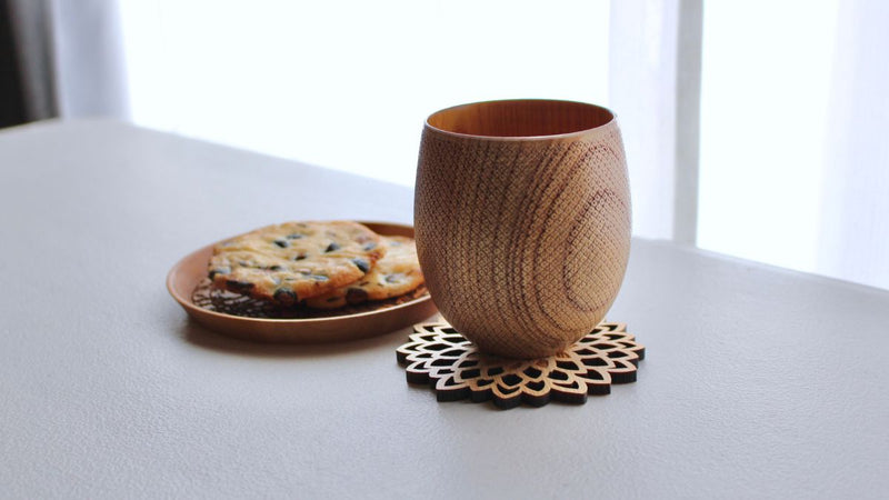
<svg viewBox="0 0 889 500">
<path fill-rule="evenodd" d="M 815 270 L 838 6 L 705 6 L 699 247 Z"/>
</svg>

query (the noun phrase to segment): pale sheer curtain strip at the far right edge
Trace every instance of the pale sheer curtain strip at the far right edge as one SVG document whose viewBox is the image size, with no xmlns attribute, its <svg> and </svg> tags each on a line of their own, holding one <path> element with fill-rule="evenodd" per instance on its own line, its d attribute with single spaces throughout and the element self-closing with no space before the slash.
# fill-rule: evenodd
<svg viewBox="0 0 889 500">
<path fill-rule="evenodd" d="M 816 270 L 889 288 L 889 2 L 837 19 Z"/>
</svg>

